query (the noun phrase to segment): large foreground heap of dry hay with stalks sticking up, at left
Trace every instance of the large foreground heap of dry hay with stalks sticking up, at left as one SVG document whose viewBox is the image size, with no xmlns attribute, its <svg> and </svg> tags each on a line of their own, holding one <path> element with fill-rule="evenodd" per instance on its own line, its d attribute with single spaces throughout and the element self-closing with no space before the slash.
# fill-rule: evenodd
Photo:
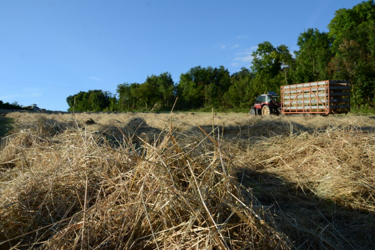
<svg viewBox="0 0 375 250">
<path fill-rule="evenodd" d="M 142 144 L 124 133 L 114 147 L 43 123 L 3 139 L 1 249 L 292 248 L 252 206 L 220 140 L 206 138 L 213 150 L 202 154 L 169 130 Z"/>
</svg>

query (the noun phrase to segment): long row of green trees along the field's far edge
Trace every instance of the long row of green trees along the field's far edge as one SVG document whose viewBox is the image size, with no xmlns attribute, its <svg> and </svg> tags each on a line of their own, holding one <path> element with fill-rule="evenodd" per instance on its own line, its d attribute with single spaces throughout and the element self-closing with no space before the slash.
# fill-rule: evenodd
<svg viewBox="0 0 375 250">
<path fill-rule="evenodd" d="M 122 83 L 116 94 L 89 90 L 69 96 L 69 111 L 178 110 L 247 111 L 256 96 L 281 85 L 329 79 L 350 80 L 355 108 L 375 106 L 375 4 L 368 0 L 339 9 L 329 32 L 309 28 L 297 38 L 298 51 L 258 44 L 250 68 L 229 74 L 224 66 L 190 68 L 174 83 L 170 73 L 144 83 Z"/>
</svg>

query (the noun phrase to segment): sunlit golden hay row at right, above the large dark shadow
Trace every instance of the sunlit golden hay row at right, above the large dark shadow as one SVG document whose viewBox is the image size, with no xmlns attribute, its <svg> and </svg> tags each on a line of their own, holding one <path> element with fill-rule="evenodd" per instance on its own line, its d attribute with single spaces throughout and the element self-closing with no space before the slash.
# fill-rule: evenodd
<svg viewBox="0 0 375 250">
<path fill-rule="evenodd" d="M 262 140 L 242 163 L 344 206 L 375 212 L 375 133 L 328 128 Z"/>
</svg>

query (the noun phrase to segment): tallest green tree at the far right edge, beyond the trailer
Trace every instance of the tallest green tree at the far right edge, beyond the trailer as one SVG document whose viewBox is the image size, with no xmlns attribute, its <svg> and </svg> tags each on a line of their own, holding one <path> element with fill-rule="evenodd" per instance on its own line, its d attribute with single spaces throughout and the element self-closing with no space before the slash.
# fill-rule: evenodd
<svg viewBox="0 0 375 250">
<path fill-rule="evenodd" d="M 329 70 L 333 78 L 352 83 L 352 103 L 375 105 L 375 4 L 361 2 L 339 9 L 328 25 L 333 39 Z"/>
</svg>

